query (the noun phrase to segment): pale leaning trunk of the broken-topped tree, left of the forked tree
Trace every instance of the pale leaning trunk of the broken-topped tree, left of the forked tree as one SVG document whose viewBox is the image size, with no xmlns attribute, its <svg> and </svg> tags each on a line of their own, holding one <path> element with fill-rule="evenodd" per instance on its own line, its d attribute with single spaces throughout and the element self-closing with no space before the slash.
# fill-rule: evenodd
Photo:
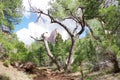
<svg viewBox="0 0 120 80">
<path fill-rule="evenodd" d="M 51 53 L 49 46 L 48 46 L 48 42 L 47 40 L 44 39 L 44 44 L 45 44 L 45 48 L 47 51 L 47 55 L 50 57 L 50 59 L 56 64 L 57 68 L 59 71 L 61 71 L 61 65 L 60 62 L 55 58 L 55 56 Z"/>
</svg>

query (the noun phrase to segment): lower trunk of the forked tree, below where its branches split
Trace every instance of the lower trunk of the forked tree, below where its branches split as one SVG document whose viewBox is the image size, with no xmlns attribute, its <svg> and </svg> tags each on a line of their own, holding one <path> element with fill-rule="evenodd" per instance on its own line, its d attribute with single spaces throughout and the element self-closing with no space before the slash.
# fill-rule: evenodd
<svg viewBox="0 0 120 80">
<path fill-rule="evenodd" d="M 74 50 L 75 50 L 75 46 L 76 46 L 76 38 L 71 37 L 71 39 L 72 39 L 72 44 L 71 44 L 71 48 L 70 48 L 70 51 L 69 51 L 69 57 L 67 59 L 67 63 L 66 63 L 66 66 L 65 66 L 66 71 L 70 70 L 70 66 L 74 61 Z"/>
</svg>

